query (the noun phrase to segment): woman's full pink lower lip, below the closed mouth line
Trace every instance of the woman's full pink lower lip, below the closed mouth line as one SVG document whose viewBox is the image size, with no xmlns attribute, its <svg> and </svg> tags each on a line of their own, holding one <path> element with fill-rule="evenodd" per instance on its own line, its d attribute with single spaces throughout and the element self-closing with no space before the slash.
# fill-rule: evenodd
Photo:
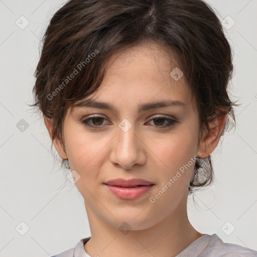
<svg viewBox="0 0 257 257">
<path fill-rule="evenodd" d="M 153 185 L 149 186 L 139 186 L 139 187 L 118 187 L 118 186 L 110 186 L 106 185 L 109 188 L 109 190 L 118 198 L 124 199 L 124 200 L 133 200 L 136 198 L 139 198 L 146 192 L 148 192 Z"/>
</svg>

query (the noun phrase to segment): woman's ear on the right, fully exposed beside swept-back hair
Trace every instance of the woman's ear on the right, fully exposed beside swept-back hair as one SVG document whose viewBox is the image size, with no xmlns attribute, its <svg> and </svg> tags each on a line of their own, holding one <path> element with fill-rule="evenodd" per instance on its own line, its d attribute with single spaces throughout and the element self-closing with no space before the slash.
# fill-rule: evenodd
<svg viewBox="0 0 257 257">
<path fill-rule="evenodd" d="M 226 114 L 216 116 L 215 120 L 209 123 L 210 132 L 206 129 L 202 140 L 198 146 L 198 151 L 202 154 L 200 158 L 206 158 L 210 155 L 219 143 L 220 136 L 226 123 Z"/>
</svg>

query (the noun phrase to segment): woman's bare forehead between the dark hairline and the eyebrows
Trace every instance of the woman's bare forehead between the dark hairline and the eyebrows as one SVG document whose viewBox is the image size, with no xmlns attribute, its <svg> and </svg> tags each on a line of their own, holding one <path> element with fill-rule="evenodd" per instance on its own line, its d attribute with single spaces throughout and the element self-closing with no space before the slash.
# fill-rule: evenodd
<svg viewBox="0 0 257 257">
<path fill-rule="evenodd" d="M 134 107 L 135 111 L 142 103 L 156 101 L 180 101 L 190 107 L 185 78 L 176 81 L 170 75 L 177 66 L 171 53 L 156 43 L 121 49 L 105 63 L 106 73 L 98 90 L 85 99 L 97 98 L 115 109 Z"/>
</svg>

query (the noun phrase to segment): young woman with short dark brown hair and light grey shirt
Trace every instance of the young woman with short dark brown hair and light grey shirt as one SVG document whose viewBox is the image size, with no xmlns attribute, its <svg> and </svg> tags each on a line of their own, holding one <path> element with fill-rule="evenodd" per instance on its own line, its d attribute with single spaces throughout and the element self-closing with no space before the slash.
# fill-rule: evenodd
<svg viewBox="0 0 257 257">
<path fill-rule="evenodd" d="M 55 256 L 257 256 L 187 216 L 234 120 L 232 69 L 222 26 L 200 0 L 71 0 L 58 10 L 34 105 L 84 198 L 91 236 Z"/>
</svg>

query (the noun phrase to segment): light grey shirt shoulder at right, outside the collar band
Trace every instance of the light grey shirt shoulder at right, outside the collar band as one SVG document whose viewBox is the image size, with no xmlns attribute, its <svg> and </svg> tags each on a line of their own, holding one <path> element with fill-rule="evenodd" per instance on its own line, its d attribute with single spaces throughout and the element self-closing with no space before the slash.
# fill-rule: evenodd
<svg viewBox="0 0 257 257">
<path fill-rule="evenodd" d="M 257 251 L 234 243 L 224 243 L 216 234 L 211 235 L 208 247 L 199 257 L 257 257 Z"/>
</svg>

